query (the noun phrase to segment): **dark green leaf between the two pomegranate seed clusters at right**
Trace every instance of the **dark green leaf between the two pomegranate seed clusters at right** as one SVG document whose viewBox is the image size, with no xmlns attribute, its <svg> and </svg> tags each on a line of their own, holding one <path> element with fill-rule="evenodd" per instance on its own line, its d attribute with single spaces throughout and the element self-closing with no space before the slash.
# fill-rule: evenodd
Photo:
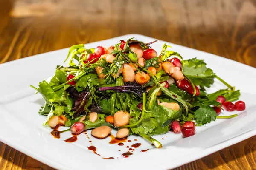
<svg viewBox="0 0 256 170">
<path fill-rule="evenodd" d="M 209 105 L 205 105 L 203 103 L 196 102 L 193 105 L 194 107 L 199 107 L 195 111 L 195 120 L 198 124 L 207 124 L 207 122 L 211 122 L 212 120 L 216 120 L 216 112 Z"/>
</svg>

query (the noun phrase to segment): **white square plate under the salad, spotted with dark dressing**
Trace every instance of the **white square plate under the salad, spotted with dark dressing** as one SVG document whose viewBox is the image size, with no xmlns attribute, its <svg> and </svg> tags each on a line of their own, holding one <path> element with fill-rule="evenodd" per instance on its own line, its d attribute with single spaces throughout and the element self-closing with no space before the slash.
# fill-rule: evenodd
<svg viewBox="0 0 256 170">
<path fill-rule="evenodd" d="M 138 34 L 129 34 L 100 42 L 85 45 L 86 48 L 95 48 L 98 45 L 110 46 L 127 40 L 130 37 L 143 42 L 151 42 L 154 38 Z M 151 45 L 160 53 L 163 41 Z M 68 53 L 67 49 L 38 54 L 0 65 L 0 140 L 11 147 L 37 159 L 51 167 L 62 170 L 79 169 L 171 169 L 182 164 L 200 159 L 232 144 L 240 142 L 256 134 L 256 69 L 208 54 L 191 48 L 167 43 L 172 46 L 172 51 L 179 52 L 184 59 L 197 57 L 204 59 L 207 67 L 215 73 L 235 85 L 241 90 L 240 99 L 246 103 L 246 111 L 239 112 L 239 116 L 233 119 L 217 119 L 205 126 L 196 127 L 196 134 L 189 138 L 182 138 L 181 134 L 167 133 L 154 136 L 163 144 L 162 149 L 156 149 L 140 137 L 129 136 L 132 142 L 124 142 L 124 146 L 109 144 L 110 137 L 98 140 L 82 133 L 78 140 L 67 143 L 63 140 L 71 137 L 70 132 L 61 134 L 61 139 L 55 139 L 49 127 L 42 126 L 45 116 L 39 116 L 38 110 L 44 105 L 44 99 L 40 94 L 34 95 L 30 84 L 37 86 L 39 82 L 54 74 L 56 65 L 61 64 Z M 210 89 L 211 92 L 226 88 L 218 80 Z M 222 112 L 222 115 L 234 114 Z M 112 130 L 112 133 L 114 130 Z M 134 141 L 137 139 L 138 141 Z M 97 148 L 93 154 L 88 150 L 91 144 Z M 142 145 L 134 150 L 129 158 L 122 158 L 121 154 L 128 151 L 127 146 L 140 142 Z M 147 152 L 141 150 L 149 149 Z M 120 150 L 120 151 L 118 151 Z M 115 159 L 102 159 L 102 157 L 114 157 Z"/>
</svg>

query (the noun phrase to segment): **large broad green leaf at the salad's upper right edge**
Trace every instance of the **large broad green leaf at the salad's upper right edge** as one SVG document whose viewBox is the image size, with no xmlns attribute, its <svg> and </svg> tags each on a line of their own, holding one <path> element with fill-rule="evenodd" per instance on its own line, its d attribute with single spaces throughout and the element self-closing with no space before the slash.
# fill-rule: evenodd
<svg viewBox="0 0 256 170">
<path fill-rule="evenodd" d="M 203 88 L 204 86 L 209 88 L 216 77 L 212 69 L 206 67 L 204 60 L 196 58 L 185 60 L 182 72 L 192 81 L 192 83 Z"/>
</svg>

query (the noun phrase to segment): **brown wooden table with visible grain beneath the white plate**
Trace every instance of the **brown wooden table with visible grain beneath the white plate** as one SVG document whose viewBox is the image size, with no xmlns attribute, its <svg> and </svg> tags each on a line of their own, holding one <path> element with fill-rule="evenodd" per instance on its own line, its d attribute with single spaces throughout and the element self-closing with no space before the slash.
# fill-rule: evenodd
<svg viewBox="0 0 256 170">
<path fill-rule="evenodd" d="M 256 67 L 256 0 L 0 0 L 0 63 L 143 34 Z M 256 169 L 256 136 L 177 169 Z M 0 169 L 52 169 L 0 143 Z"/>
</svg>

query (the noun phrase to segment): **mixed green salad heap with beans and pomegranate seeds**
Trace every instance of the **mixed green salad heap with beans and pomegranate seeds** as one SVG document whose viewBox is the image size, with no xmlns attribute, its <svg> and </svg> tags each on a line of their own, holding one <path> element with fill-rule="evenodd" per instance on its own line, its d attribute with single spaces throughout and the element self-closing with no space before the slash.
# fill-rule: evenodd
<svg viewBox="0 0 256 170">
<path fill-rule="evenodd" d="M 45 99 L 39 110 L 45 115 L 43 125 L 52 129 L 69 127 L 73 134 L 93 129 L 98 139 L 118 130 L 117 139 L 141 136 L 157 148 L 162 144 L 152 136 L 170 131 L 183 137 L 195 134 L 195 126 L 216 119 L 221 109 L 242 111 L 240 91 L 218 77 L 203 60 L 183 60 L 179 53 L 164 44 L 162 51 L 150 48 L 152 43 L 130 38 L 110 47 L 85 48 L 73 45 L 64 63 L 38 88 Z M 226 89 L 207 94 L 214 79 Z M 61 131 L 59 133 L 62 133 Z"/>
</svg>

